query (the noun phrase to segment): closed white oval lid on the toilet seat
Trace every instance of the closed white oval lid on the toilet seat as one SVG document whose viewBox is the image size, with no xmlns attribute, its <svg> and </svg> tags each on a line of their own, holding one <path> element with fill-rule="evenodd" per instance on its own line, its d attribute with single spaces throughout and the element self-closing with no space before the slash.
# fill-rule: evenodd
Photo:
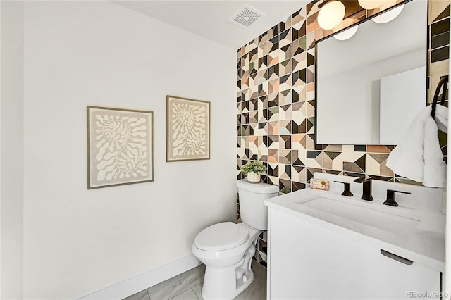
<svg viewBox="0 0 451 300">
<path fill-rule="evenodd" d="M 206 251 L 232 249 L 249 239 L 249 231 L 232 222 L 206 227 L 194 239 L 197 248 Z"/>
</svg>

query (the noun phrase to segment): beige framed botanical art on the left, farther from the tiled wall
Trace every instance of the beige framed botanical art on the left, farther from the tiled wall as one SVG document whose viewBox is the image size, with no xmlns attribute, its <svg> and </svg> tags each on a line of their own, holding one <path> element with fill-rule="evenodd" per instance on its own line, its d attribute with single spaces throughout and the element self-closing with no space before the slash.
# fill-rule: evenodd
<svg viewBox="0 0 451 300">
<path fill-rule="evenodd" d="M 87 188 L 154 181 L 154 113 L 87 106 Z"/>
</svg>

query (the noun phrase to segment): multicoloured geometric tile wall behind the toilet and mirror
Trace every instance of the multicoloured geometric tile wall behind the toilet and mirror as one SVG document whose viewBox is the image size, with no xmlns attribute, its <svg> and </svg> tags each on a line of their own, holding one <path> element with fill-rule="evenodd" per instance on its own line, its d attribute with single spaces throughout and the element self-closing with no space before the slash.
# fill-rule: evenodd
<svg viewBox="0 0 451 300">
<path fill-rule="evenodd" d="M 315 144 L 316 40 L 386 8 L 362 9 L 334 30 L 323 30 L 316 22 L 322 2 L 307 4 L 237 51 L 237 178 L 244 178 L 242 165 L 261 161 L 268 167 L 262 179 L 280 193 L 304 189 L 314 172 L 414 184 L 385 165 L 394 146 Z M 449 74 L 450 1 L 428 1 L 428 25 L 430 99 L 440 76 Z M 446 136 L 440 141 L 445 155 Z M 259 243 L 266 250 L 263 238 Z"/>
</svg>

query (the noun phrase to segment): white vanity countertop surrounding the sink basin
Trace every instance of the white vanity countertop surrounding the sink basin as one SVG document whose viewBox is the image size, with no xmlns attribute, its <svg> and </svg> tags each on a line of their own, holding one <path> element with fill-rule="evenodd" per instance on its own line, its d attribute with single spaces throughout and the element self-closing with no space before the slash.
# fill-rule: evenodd
<svg viewBox="0 0 451 300">
<path fill-rule="evenodd" d="M 352 177 L 348 177 L 348 180 L 352 180 Z M 418 187 L 412 188 L 418 189 Z M 390 232 L 388 230 L 382 230 L 378 227 L 365 225 L 348 218 L 342 218 L 338 215 L 327 213 L 326 211 L 320 211 L 308 206 L 299 205 L 299 201 L 302 201 L 302 199 L 311 199 L 311 197 L 314 196 L 327 195 L 330 195 L 330 198 L 340 197 L 340 201 L 345 201 L 347 204 L 371 206 L 371 208 L 378 211 L 388 211 L 392 209 L 398 214 L 417 215 L 421 221 L 418 225 L 416 225 L 416 227 L 414 227 L 413 230 L 409 232 L 402 232 L 402 230 L 401 232 L 399 230 L 393 230 L 393 232 Z M 387 251 L 393 251 L 393 253 L 408 258 L 414 262 L 428 265 L 429 267 L 440 270 L 441 272 L 444 271 L 445 215 L 443 213 L 433 209 L 409 206 L 405 204 L 405 202 L 403 205 L 398 207 L 386 206 L 383 205 L 383 201 L 385 201 L 385 199 L 375 198 L 374 201 L 370 202 L 361 200 L 360 196 L 362 195 L 359 192 L 355 192 L 352 197 L 345 197 L 340 196 L 339 193 L 333 191 L 320 191 L 307 188 L 292 192 L 290 194 L 284 194 L 267 199 L 265 204 L 268 208 L 277 209 L 297 218 L 309 220 L 310 222 L 326 227 L 329 230 L 345 230 L 348 231 L 348 233 L 356 235 L 357 238 L 364 235 L 365 237 L 376 239 L 378 242 L 381 242 L 381 247 Z M 351 230 L 351 232 L 349 232 L 349 230 Z"/>
</svg>

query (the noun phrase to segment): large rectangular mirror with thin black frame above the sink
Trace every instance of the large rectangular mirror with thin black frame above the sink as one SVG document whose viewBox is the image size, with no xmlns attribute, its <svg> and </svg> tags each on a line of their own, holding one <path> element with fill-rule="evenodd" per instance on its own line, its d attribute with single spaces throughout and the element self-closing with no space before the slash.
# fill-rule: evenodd
<svg viewBox="0 0 451 300">
<path fill-rule="evenodd" d="M 316 43 L 316 144 L 397 144 L 426 106 L 427 1 L 358 26 Z"/>
</svg>

